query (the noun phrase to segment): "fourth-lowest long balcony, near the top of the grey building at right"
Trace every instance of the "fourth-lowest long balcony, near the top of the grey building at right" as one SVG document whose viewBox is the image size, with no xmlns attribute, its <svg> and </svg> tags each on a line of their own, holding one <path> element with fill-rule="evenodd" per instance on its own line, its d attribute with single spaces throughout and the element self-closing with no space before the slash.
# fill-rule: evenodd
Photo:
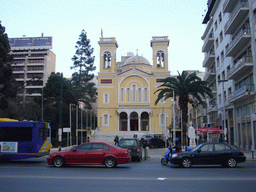
<svg viewBox="0 0 256 192">
<path fill-rule="evenodd" d="M 225 33 L 232 34 L 238 28 L 238 26 L 243 22 L 246 15 L 249 13 L 249 3 L 239 2 L 235 9 L 230 15 L 230 19 L 225 25 Z"/>
</svg>

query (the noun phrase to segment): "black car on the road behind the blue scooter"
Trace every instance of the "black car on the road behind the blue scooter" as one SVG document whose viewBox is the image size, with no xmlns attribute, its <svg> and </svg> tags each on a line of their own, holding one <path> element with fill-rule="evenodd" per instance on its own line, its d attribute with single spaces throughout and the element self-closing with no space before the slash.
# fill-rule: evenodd
<svg viewBox="0 0 256 192">
<path fill-rule="evenodd" d="M 221 164 L 236 167 L 237 163 L 245 162 L 244 152 L 227 143 L 203 143 L 189 152 L 173 154 L 170 162 L 182 167 L 191 165 Z"/>
</svg>

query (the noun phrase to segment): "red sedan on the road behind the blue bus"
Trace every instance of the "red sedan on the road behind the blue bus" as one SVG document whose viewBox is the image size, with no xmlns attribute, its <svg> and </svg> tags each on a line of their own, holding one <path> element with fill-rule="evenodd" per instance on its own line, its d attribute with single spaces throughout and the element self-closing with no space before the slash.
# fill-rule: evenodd
<svg viewBox="0 0 256 192">
<path fill-rule="evenodd" d="M 48 165 L 105 165 L 108 168 L 117 164 L 129 163 L 129 149 L 121 149 L 104 142 L 83 143 L 68 151 L 51 153 L 47 158 Z"/>
</svg>

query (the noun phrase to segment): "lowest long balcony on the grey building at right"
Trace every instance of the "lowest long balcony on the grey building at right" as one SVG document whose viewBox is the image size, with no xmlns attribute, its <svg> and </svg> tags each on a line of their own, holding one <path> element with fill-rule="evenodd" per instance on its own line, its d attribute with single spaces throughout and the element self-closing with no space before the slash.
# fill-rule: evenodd
<svg viewBox="0 0 256 192">
<path fill-rule="evenodd" d="M 254 85 L 247 85 L 231 93 L 228 96 L 228 101 L 230 103 L 236 103 L 254 97 L 254 95 Z"/>
</svg>

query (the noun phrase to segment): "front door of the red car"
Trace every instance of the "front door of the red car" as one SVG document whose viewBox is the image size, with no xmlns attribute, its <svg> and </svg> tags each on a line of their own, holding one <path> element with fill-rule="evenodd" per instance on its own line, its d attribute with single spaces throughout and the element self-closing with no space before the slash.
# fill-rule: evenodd
<svg viewBox="0 0 256 192">
<path fill-rule="evenodd" d="M 72 153 L 67 157 L 71 164 L 88 164 L 89 163 L 89 151 L 91 149 L 91 143 L 85 143 L 79 145 Z M 66 159 L 67 159 L 66 158 Z"/>
</svg>

